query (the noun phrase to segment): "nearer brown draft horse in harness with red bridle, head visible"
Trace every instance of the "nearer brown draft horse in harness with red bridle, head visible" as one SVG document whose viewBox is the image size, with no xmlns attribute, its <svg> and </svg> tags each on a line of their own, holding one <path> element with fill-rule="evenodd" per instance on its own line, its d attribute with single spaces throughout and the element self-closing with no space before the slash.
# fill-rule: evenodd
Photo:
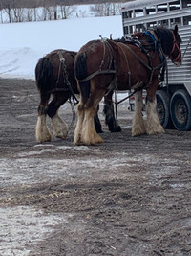
<svg viewBox="0 0 191 256">
<path fill-rule="evenodd" d="M 74 73 L 78 81 L 80 102 L 74 145 L 96 145 L 103 139 L 96 133 L 93 118 L 105 93 L 113 89 L 135 91 L 135 116 L 132 135 L 164 132 L 156 110 L 159 74 L 164 70 L 166 56 L 180 66 L 180 35 L 174 30 L 158 27 L 135 33 L 131 40 L 94 40 L 77 53 Z M 147 91 L 146 115 L 142 117 L 142 89 Z"/>
</svg>

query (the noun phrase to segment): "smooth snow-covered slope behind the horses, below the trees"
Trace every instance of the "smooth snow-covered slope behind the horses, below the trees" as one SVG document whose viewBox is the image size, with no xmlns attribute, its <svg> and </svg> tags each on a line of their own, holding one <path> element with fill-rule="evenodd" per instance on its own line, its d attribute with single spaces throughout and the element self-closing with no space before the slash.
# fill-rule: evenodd
<svg viewBox="0 0 191 256">
<path fill-rule="evenodd" d="M 78 51 L 110 34 L 114 39 L 123 35 L 120 15 L 0 24 L 0 77 L 34 80 L 39 58 L 59 48 Z"/>
</svg>

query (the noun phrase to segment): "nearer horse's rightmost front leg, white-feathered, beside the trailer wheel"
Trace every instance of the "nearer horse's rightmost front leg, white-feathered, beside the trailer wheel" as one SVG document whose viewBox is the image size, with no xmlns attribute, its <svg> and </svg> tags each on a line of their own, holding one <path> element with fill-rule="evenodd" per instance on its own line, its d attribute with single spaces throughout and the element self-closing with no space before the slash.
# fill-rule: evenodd
<svg viewBox="0 0 191 256">
<path fill-rule="evenodd" d="M 147 119 L 145 122 L 147 134 L 159 134 L 164 133 L 164 128 L 160 125 L 159 116 L 157 113 L 157 91 L 158 81 L 152 83 L 147 89 L 147 101 L 146 101 L 146 115 Z"/>
</svg>

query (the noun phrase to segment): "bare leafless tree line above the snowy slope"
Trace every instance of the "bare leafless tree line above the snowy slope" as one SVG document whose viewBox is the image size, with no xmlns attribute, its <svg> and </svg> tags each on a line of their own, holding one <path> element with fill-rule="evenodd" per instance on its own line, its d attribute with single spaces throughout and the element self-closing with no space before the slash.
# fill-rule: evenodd
<svg viewBox="0 0 191 256">
<path fill-rule="evenodd" d="M 1 0 L 0 23 L 30 22 L 43 20 L 67 19 L 76 14 L 83 17 L 86 13 L 77 13 L 76 5 L 91 5 L 90 11 L 95 16 L 120 14 L 120 5 L 124 1 L 108 2 L 105 0 Z"/>
</svg>

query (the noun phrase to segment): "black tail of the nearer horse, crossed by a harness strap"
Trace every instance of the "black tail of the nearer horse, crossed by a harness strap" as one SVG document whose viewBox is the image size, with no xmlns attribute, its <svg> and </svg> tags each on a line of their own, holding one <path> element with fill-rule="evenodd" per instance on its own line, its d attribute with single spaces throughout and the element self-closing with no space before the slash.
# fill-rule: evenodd
<svg viewBox="0 0 191 256">
<path fill-rule="evenodd" d="M 75 78 L 78 81 L 81 99 L 85 104 L 90 96 L 90 80 L 85 80 L 88 77 L 86 53 L 81 53 L 76 56 L 74 62 Z"/>
</svg>

